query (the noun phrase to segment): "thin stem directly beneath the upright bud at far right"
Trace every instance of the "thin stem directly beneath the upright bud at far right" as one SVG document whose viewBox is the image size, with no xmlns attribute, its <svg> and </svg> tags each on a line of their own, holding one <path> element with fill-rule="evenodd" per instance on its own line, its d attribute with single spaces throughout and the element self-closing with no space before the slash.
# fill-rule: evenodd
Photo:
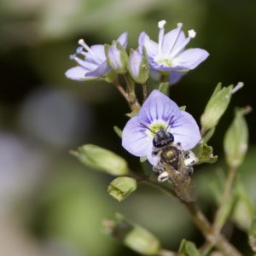
<svg viewBox="0 0 256 256">
<path fill-rule="evenodd" d="M 226 201 L 229 199 L 230 191 L 232 189 L 232 184 L 234 182 L 235 177 L 236 177 L 236 168 L 230 167 L 230 171 L 226 179 L 226 183 L 224 185 L 224 193 L 222 195 L 218 210 L 216 212 L 216 216 L 213 221 L 213 229 L 216 230 L 217 232 L 219 232 L 222 228 L 222 225 L 220 224 L 220 219 L 224 214 L 224 207 L 225 207 Z"/>
</svg>

